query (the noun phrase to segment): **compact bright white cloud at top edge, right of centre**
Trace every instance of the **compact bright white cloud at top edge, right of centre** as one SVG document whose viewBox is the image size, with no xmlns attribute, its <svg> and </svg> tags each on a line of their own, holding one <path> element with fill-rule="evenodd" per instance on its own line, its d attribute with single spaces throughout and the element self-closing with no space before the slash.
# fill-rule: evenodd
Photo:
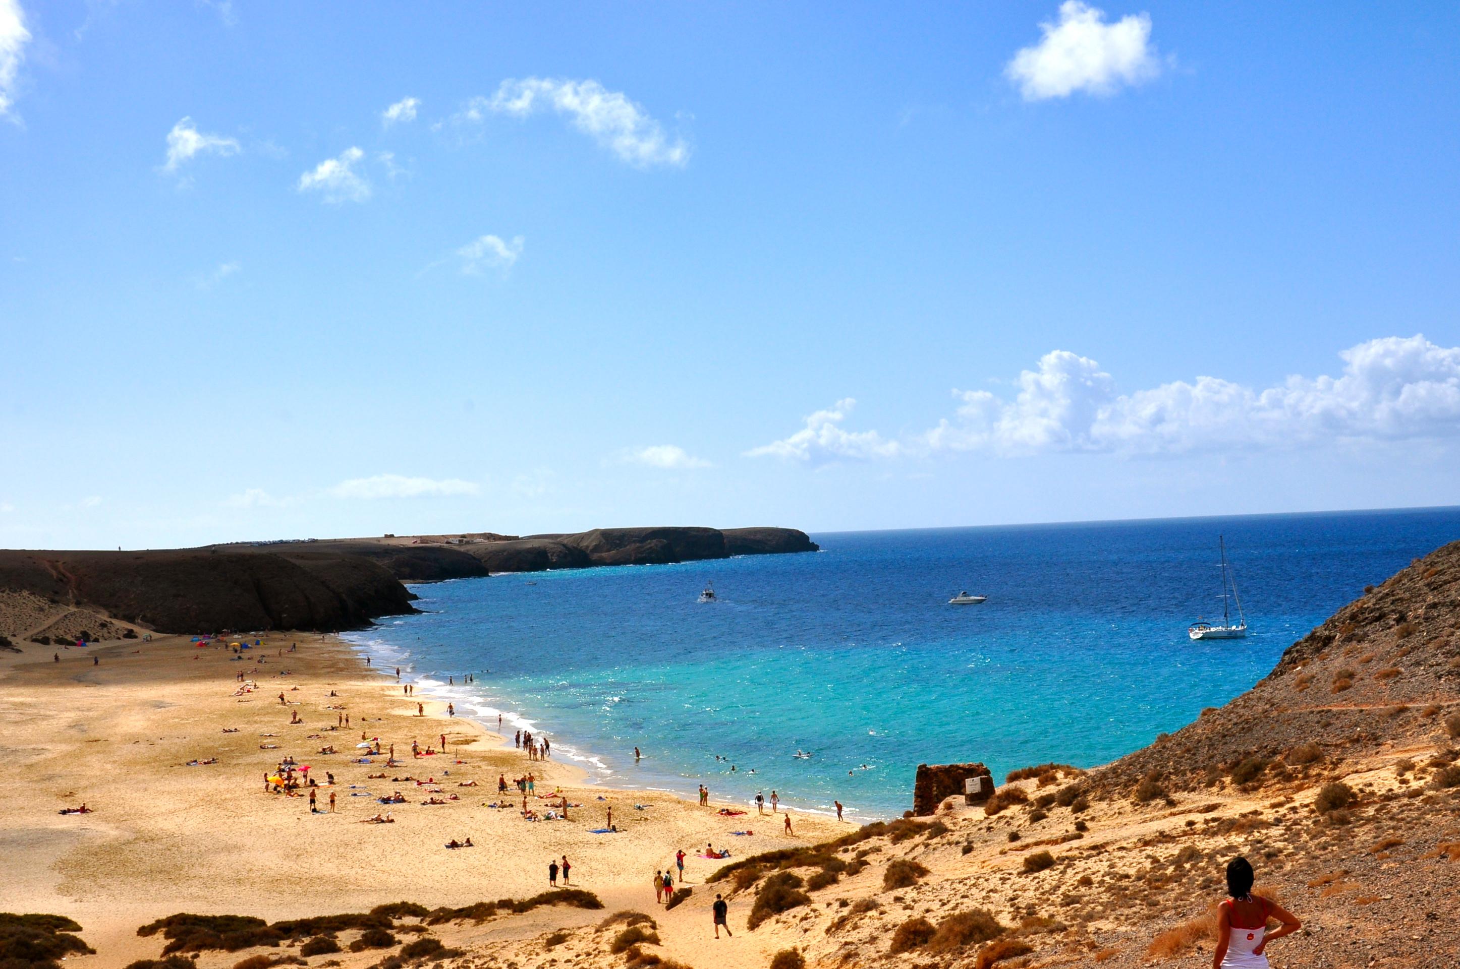
<svg viewBox="0 0 1460 969">
<path fill-rule="evenodd" d="M 1105 23 L 1104 10 L 1066 0 L 1060 22 L 1044 22 L 1040 29 L 1044 39 L 1021 50 L 1004 69 L 1025 101 L 1067 98 L 1076 90 L 1110 95 L 1161 73 L 1146 13 Z"/>
</svg>

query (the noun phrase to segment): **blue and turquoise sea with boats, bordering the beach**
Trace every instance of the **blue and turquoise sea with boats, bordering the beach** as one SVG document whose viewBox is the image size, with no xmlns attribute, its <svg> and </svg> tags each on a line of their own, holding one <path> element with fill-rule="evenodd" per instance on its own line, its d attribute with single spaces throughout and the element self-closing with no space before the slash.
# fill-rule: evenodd
<svg viewBox="0 0 1460 969">
<path fill-rule="evenodd" d="M 1222 610 L 1219 534 L 1251 633 L 1193 642 Z M 918 763 L 1092 766 L 1180 728 L 1460 538 L 1460 508 L 812 537 L 822 552 L 416 585 L 423 614 L 350 638 L 604 782 L 888 817 Z M 707 581 L 720 601 L 698 604 Z M 959 590 L 988 601 L 946 604 Z"/>
</svg>

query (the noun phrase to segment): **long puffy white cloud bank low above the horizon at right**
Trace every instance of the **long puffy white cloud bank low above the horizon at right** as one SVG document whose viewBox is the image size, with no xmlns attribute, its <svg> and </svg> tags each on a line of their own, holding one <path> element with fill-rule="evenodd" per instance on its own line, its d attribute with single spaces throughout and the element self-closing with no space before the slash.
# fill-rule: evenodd
<svg viewBox="0 0 1460 969">
<path fill-rule="evenodd" d="M 1460 436 L 1460 347 L 1424 336 L 1343 350 L 1339 377 L 1289 377 L 1256 390 L 1218 377 L 1117 395 L 1094 360 L 1047 353 L 1003 401 L 955 391 L 955 420 L 927 432 L 930 449 L 1129 451 L 1280 448 L 1352 439 Z"/>
</svg>

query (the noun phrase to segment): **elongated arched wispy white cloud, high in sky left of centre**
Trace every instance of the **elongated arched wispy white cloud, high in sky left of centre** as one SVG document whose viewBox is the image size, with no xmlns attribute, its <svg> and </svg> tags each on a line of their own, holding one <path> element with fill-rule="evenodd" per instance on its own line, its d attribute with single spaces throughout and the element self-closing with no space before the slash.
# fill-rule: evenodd
<svg viewBox="0 0 1460 969">
<path fill-rule="evenodd" d="M 488 111 L 526 118 L 545 109 L 566 115 L 575 128 L 637 168 L 682 168 L 689 161 L 683 139 L 670 139 L 641 105 L 596 80 L 508 79 L 491 98 L 467 102 L 456 120 L 480 121 Z"/>
</svg>

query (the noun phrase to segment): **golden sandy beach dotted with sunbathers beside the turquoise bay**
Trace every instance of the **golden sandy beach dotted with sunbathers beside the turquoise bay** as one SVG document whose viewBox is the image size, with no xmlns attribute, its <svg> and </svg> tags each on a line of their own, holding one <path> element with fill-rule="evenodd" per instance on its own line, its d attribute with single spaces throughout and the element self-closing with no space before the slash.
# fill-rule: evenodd
<svg viewBox="0 0 1460 969">
<path fill-rule="evenodd" d="M 572 884 L 602 896 L 610 912 L 653 911 L 650 877 L 673 864 L 676 849 L 688 855 L 685 879 L 694 886 L 726 864 L 701 857 L 707 842 L 743 858 L 854 827 L 796 814 L 788 838 L 769 810 L 726 817 L 714 800 L 707 808 L 587 784 L 572 765 L 529 760 L 511 737 L 448 717 L 444 702 L 422 699 L 418 715 L 418 700 L 403 696 L 394 677 L 366 668 L 328 636 L 266 636 L 244 658 L 182 636 L 60 648 L 58 663 L 54 652 L 26 644 L 22 654 L 0 654 L 0 854 L 10 860 L 0 909 L 74 918 L 98 950 L 73 957 L 86 969 L 155 957 L 158 940 L 137 938 L 136 928 L 174 912 L 279 919 L 397 900 L 434 908 L 523 897 L 549 887 L 548 864 L 562 855 L 572 862 Z M 239 674 L 257 689 L 235 695 Z M 301 724 L 291 724 L 295 712 Z M 340 724 L 346 714 L 349 728 Z M 356 763 L 362 734 L 378 737 L 383 750 L 394 744 L 397 766 L 385 766 L 384 754 Z M 412 757 L 413 740 L 422 750 L 439 747 L 441 734 L 445 756 Z M 318 753 L 326 746 L 339 753 Z M 334 787 L 317 788 L 320 813 L 304 795 L 266 791 L 264 776 L 285 756 L 310 765 L 321 785 L 334 775 Z M 529 772 L 539 795 L 529 806 L 552 808 L 556 801 L 543 795 L 561 788 L 575 806 L 568 820 L 523 819 L 512 782 Z M 501 803 L 499 775 L 510 807 L 485 807 Z M 391 779 L 407 776 L 434 778 L 439 794 Z M 406 803 L 375 800 L 397 790 Z M 422 804 L 431 797 L 457 800 Z M 58 813 L 82 803 L 92 813 Z M 609 808 L 619 832 L 591 833 Z M 384 811 L 396 822 L 361 823 Z M 730 833 L 746 829 L 755 835 Z M 474 848 L 444 848 L 469 836 Z M 515 931 L 602 916 L 543 909 L 517 919 Z M 219 965 L 232 962 L 219 956 Z"/>
</svg>

